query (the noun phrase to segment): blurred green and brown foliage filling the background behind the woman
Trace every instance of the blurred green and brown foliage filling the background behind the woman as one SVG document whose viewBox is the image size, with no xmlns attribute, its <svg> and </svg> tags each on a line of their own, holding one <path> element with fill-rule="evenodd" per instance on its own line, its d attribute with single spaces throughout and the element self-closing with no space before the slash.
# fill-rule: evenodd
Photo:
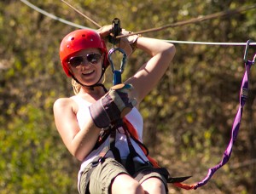
<svg viewBox="0 0 256 194">
<path fill-rule="evenodd" d="M 36 1 L 40 9 L 96 29 L 61 1 Z M 244 1 L 68 1 L 101 26 L 113 18 L 131 31 L 165 26 L 199 15 L 236 9 Z M 18 8 L 18 9 L 17 9 Z M 255 9 L 216 20 L 150 32 L 145 37 L 201 42 L 256 40 Z M 54 101 L 73 95 L 59 61 L 59 44 L 73 26 L 39 14 L 20 1 L 0 2 L 0 192 L 76 193 L 79 163 L 63 145 L 52 113 Z M 110 45 L 111 46 L 111 45 Z M 201 180 L 221 159 L 239 102 L 244 47 L 176 44 L 166 76 L 143 100 L 144 142 L 173 175 Z M 252 47 L 248 56 L 255 52 Z M 250 59 L 249 58 L 249 59 Z M 129 77 L 148 60 L 137 50 Z M 107 72 L 107 86 L 112 75 Z M 253 193 L 255 179 L 256 71 L 230 163 L 195 193 Z M 177 190 L 170 185 L 170 193 Z M 185 193 L 184 191 L 182 191 Z M 189 193 L 194 191 L 189 191 Z"/>
</svg>

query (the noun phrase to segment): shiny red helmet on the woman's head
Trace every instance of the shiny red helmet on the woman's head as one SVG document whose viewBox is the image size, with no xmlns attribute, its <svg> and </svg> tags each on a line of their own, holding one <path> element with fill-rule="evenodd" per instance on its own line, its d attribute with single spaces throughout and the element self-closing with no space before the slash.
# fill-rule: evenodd
<svg viewBox="0 0 256 194">
<path fill-rule="evenodd" d="M 102 39 L 102 37 L 93 30 L 82 29 L 72 31 L 67 34 L 66 37 L 61 41 L 60 46 L 60 58 L 61 65 L 66 72 L 68 77 L 71 77 L 70 71 L 68 70 L 67 60 L 68 58 L 82 49 L 86 48 L 100 48 L 102 53 L 105 54 L 103 61 L 103 68 L 106 69 L 109 65 L 108 62 L 108 49 Z"/>
</svg>

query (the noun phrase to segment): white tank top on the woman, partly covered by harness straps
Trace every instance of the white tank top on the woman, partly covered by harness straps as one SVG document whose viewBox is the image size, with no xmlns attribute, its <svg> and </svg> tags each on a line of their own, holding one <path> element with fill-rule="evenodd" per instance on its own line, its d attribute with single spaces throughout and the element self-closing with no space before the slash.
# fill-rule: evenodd
<svg viewBox="0 0 256 194">
<path fill-rule="evenodd" d="M 84 124 L 86 123 L 87 119 L 90 117 L 90 111 L 89 111 L 89 106 L 90 102 L 84 100 L 81 98 L 79 95 L 75 95 L 71 97 L 78 105 L 79 110 L 77 112 L 77 119 L 79 123 L 79 127 L 83 128 Z M 142 142 L 143 138 L 143 117 L 140 114 L 139 111 L 137 111 L 137 108 L 133 108 L 131 112 L 129 112 L 126 116 L 127 120 L 133 125 L 133 127 L 137 130 L 137 134 L 139 137 L 139 140 Z M 143 150 L 140 148 L 137 143 L 130 139 L 131 143 L 134 147 L 134 149 L 137 151 L 137 154 L 143 158 L 143 161 L 148 161 L 148 158 L 145 156 L 143 153 Z M 92 160 L 99 156 L 101 153 L 102 149 L 106 146 L 109 145 L 109 137 L 107 140 L 105 140 L 102 145 L 100 145 L 96 150 L 93 150 L 90 152 L 90 154 L 84 158 L 84 161 L 81 164 L 80 170 L 79 170 L 79 181 L 81 174 L 84 172 L 84 168 L 92 162 Z M 128 154 L 130 153 L 129 147 L 127 144 L 127 139 L 126 135 L 124 132 L 123 128 L 119 128 L 116 133 L 116 138 L 115 138 L 115 146 L 119 149 L 120 152 L 120 157 L 121 159 L 125 159 Z M 112 151 L 108 151 L 106 157 L 113 157 Z M 139 157 L 136 157 L 135 160 L 138 162 L 142 162 L 142 159 Z"/>
</svg>

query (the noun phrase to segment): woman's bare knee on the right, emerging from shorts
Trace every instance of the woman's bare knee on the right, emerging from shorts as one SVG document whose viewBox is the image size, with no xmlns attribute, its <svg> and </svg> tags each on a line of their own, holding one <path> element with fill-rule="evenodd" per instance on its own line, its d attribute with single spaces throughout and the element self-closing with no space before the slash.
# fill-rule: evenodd
<svg viewBox="0 0 256 194">
<path fill-rule="evenodd" d="M 152 177 L 144 180 L 142 186 L 145 193 L 166 194 L 166 185 L 159 178 Z"/>
</svg>

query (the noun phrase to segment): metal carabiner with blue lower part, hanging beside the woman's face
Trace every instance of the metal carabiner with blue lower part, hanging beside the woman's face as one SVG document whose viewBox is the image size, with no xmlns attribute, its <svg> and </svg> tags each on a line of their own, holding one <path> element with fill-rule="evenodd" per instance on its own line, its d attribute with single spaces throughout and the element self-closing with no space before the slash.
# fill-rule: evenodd
<svg viewBox="0 0 256 194">
<path fill-rule="evenodd" d="M 114 54 L 116 51 L 119 51 L 120 53 L 123 54 L 123 59 L 121 61 L 121 66 L 119 70 L 116 70 L 114 65 L 113 65 L 113 60 L 111 55 Z M 122 77 L 121 74 L 123 73 L 123 71 L 125 70 L 125 64 L 127 61 L 127 54 L 125 54 L 125 50 L 123 50 L 122 48 L 112 48 L 108 51 L 108 61 L 110 63 L 112 72 L 113 72 L 113 85 L 122 83 Z"/>
</svg>

